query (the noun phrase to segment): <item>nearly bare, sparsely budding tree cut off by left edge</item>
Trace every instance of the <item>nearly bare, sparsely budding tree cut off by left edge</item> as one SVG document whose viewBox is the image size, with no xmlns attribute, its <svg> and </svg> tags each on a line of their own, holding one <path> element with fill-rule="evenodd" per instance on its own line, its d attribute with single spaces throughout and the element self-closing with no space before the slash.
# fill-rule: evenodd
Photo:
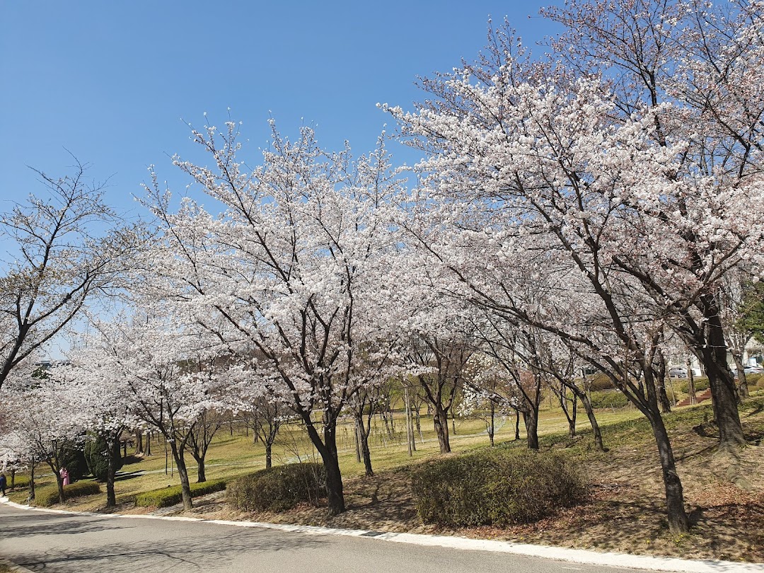
<svg viewBox="0 0 764 573">
<path fill-rule="evenodd" d="M 30 195 L 0 215 L 8 253 L 0 276 L 0 387 L 89 301 L 115 286 L 144 238 L 103 201 L 86 166 L 61 178 L 35 170 L 47 196 Z"/>
</svg>

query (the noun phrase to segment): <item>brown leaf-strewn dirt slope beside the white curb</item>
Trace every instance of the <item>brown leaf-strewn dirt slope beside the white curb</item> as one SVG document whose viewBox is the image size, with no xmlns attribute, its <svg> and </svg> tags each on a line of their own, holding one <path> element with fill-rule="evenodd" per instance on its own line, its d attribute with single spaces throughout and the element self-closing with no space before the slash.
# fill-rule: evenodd
<svg viewBox="0 0 764 573">
<path fill-rule="evenodd" d="M 680 416 L 681 417 L 681 416 Z M 688 417 L 691 421 L 691 416 Z M 707 416 L 706 416 L 707 417 Z M 580 549 L 669 555 L 681 558 L 764 562 L 764 414 L 742 411 L 749 446 L 739 458 L 716 452 L 711 423 L 675 423 L 670 429 L 685 489 L 691 532 L 675 536 L 665 520 L 663 485 L 655 442 L 644 429 L 608 434 L 608 452 L 594 452 L 582 435 L 545 447 L 580 450 L 591 483 L 591 499 L 537 523 L 497 528 L 444 529 L 423 525 L 410 487 L 410 468 L 345 481 L 348 510 L 329 517 L 325 507 L 296 507 L 284 513 L 241 513 L 222 494 L 199 500 L 189 515 L 207 519 L 254 520 L 388 532 L 435 533 L 481 539 L 558 545 Z M 697 421 L 697 420 L 696 420 Z M 522 447 L 518 445 L 518 447 Z M 747 481 L 738 483 L 733 478 Z"/>
</svg>

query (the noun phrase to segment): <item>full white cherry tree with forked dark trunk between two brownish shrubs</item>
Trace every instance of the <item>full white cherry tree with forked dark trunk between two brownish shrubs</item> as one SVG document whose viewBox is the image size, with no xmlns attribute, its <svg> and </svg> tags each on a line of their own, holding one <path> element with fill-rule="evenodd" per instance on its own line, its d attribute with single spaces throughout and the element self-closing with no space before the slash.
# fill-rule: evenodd
<svg viewBox="0 0 764 573">
<path fill-rule="evenodd" d="M 309 128 L 294 142 L 274 128 L 263 162 L 250 169 L 237 157 L 233 122 L 192 133 L 213 167 L 175 163 L 225 211 L 186 199 L 173 212 L 154 179 L 149 200 L 167 247 L 154 264 L 157 288 L 232 354 L 262 357 L 253 384 L 278 380 L 277 399 L 303 420 L 322 457 L 329 513 L 341 513 L 338 416 L 359 388 L 384 379 L 396 336 L 384 317 L 396 248 L 387 209 L 401 181 L 381 140 L 352 160 L 348 148 L 322 151 Z"/>
</svg>

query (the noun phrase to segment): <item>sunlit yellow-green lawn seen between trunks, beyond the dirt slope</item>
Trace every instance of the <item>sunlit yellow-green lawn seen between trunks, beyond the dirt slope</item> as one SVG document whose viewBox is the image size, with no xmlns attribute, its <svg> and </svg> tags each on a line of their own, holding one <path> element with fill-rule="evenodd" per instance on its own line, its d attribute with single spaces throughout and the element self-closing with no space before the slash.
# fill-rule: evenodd
<svg viewBox="0 0 764 573">
<path fill-rule="evenodd" d="M 693 410 L 701 411 L 706 407 L 701 405 Z M 617 445 L 621 440 L 629 439 L 629 428 L 633 429 L 634 424 L 647 424 L 643 416 L 633 407 L 600 410 L 597 413 L 597 420 L 603 426 L 604 440 L 608 447 Z M 513 415 L 507 416 L 503 421 L 497 417 L 495 436 L 497 443 L 513 441 L 514 421 Z M 408 455 L 406 448 L 403 413 L 395 413 L 394 424 L 396 432 L 390 439 L 385 432 L 383 422 L 376 419 L 372 423 L 370 446 L 371 462 L 375 471 L 398 468 L 413 461 L 431 458 L 439 453 L 438 440 L 432 427 L 431 417 L 422 416 L 421 418 L 422 435 L 420 436 L 419 432 L 416 432 L 416 452 L 413 452 L 412 457 Z M 468 452 L 488 444 L 483 420 L 457 419 L 455 426 L 456 433 L 454 434 L 451 432 L 452 423 L 449 421 L 451 445 L 454 452 Z M 562 447 L 568 440 L 567 431 L 568 422 L 562 411 L 555 407 L 552 400 L 545 399 L 543 410 L 539 415 L 539 436 L 542 445 Z M 345 478 L 364 475 L 363 463 L 358 463 L 355 458 L 353 432 L 354 426 L 349 419 L 338 426 L 339 463 Z M 577 432 L 581 438 L 575 441 L 575 447 L 591 448 L 591 430 L 588 419 L 582 410 L 579 411 Z M 522 422 L 520 435 L 521 439 L 525 439 Z M 153 455 L 147 458 L 128 458 L 121 471 L 118 472 L 115 483 L 117 503 L 132 504 L 135 498 L 144 492 L 180 486 L 180 478 L 176 468 L 173 468 L 174 464 L 170 454 L 167 455 L 167 471 L 165 471 L 164 445 L 161 440 L 157 441 L 156 436 L 152 438 L 151 451 Z M 283 426 L 277 443 L 274 445 L 274 465 L 286 464 L 298 459 L 320 461 L 319 455 L 310 444 L 302 426 L 298 424 Z M 190 455 L 186 456 L 186 463 L 189 465 L 189 480 L 195 482 L 196 465 Z M 220 479 L 230 481 L 264 467 L 264 448 L 260 443 L 252 443 L 251 432 L 234 426 L 231 435 L 230 429 L 225 426 L 210 445 L 206 459 L 206 478 L 208 481 Z M 35 482 L 37 494 L 45 494 L 49 489 L 55 490 L 55 480 L 47 467 L 40 467 L 38 472 Z M 17 476 L 17 480 L 22 479 L 24 479 L 23 476 Z M 17 490 L 10 494 L 11 500 L 18 503 L 23 503 L 27 496 L 26 489 Z M 78 498 L 70 503 L 80 510 L 97 510 L 105 505 L 105 494 Z"/>
</svg>

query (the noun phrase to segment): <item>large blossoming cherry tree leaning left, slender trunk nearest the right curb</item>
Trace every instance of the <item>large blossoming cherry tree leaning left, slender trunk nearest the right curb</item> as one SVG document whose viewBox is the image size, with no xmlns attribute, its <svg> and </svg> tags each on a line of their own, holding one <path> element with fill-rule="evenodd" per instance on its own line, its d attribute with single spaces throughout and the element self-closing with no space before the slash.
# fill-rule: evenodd
<svg viewBox="0 0 764 573">
<path fill-rule="evenodd" d="M 755 246 L 756 235 L 736 227 L 738 202 L 755 187 L 722 200 L 712 178 L 677 177 L 688 144 L 655 143 L 661 110 L 616 121 L 597 79 L 549 75 L 513 55 L 506 32 L 492 40 L 478 64 L 426 80 L 435 99 L 415 113 L 387 108 L 402 136 L 429 154 L 419 206 L 402 224 L 474 302 L 558 335 L 616 380 L 651 422 L 669 523 L 685 531 L 653 364 L 664 317 L 675 328 L 691 324 L 699 293 Z M 676 209 L 688 196 L 688 209 Z M 709 222 L 708 212 L 720 215 Z M 675 263 L 685 260 L 689 228 L 731 250 L 709 254 L 708 273 Z"/>
</svg>

